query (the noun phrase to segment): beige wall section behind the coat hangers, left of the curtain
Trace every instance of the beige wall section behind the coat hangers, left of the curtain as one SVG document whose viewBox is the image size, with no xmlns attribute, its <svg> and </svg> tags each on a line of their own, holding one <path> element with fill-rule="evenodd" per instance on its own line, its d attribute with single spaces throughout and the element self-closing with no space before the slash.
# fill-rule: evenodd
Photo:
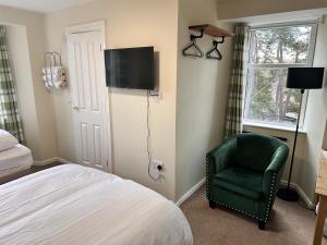
<svg viewBox="0 0 327 245">
<path fill-rule="evenodd" d="M 190 44 L 189 25 L 217 22 L 216 0 L 181 0 L 179 4 L 179 50 L 177 94 L 177 199 L 205 176 L 205 155 L 221 139 L 231 60 L 231 39 L 219 45 L 221 61 L 183 57 Z M 204 52 L 213 37 L 197 44 Z"/>
</svg>

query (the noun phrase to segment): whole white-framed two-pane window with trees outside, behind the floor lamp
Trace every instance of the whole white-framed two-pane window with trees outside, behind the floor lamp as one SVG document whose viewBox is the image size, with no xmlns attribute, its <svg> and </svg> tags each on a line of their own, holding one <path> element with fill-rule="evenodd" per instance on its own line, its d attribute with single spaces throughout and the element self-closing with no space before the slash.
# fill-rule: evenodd
<svg viewBox="0 0 327 245">
<path fill-rule="evenodd" d="M 244 123 L 296 124 L 301 94 L 286 88 L 288 68 L 312 66 L 316 24 L 252 28 Z M 303 99 L 302 122 L 306 95 Z"/>
</svg>

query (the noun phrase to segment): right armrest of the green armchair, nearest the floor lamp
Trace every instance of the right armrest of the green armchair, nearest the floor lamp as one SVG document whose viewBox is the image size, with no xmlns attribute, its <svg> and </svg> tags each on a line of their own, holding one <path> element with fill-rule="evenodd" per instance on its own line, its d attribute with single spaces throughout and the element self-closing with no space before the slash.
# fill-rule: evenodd
<svg viewBox="0 0 327 245">
<path fill-rule="evenodd" d="M 274 154 L 272 160 L 264 174 L 264 193 L 268 194 L 271 191 L 272 182 L 275 182 L 275 186 L 279 184 L 288 156 L 289 148 L 287 145 L 281 145 Z"/>
</svg>

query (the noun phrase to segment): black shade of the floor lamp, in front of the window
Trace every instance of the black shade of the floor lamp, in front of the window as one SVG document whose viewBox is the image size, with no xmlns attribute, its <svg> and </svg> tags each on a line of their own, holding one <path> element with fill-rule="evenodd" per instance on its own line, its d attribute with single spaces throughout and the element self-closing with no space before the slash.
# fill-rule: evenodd
<svg viewBox="0 0 327 245">
<path fill-rule="evenodd" d="M 325 68 L 289 68 L 288 88 L 318 89 L 323 87 Z"/>
</svg>

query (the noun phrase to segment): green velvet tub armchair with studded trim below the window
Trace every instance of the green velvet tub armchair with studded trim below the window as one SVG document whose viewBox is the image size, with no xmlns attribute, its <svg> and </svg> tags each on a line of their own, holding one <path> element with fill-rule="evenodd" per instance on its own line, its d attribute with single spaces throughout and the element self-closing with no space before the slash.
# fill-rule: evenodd
<svg viewBox="0 0 327 245">
<path fill-rule="evenodd" d="M 289 155 L 275 137 L 239 134 L 207 154 L 206 195 L 210 208 L 233 209 L 265 229 Z"/>
</svg>

